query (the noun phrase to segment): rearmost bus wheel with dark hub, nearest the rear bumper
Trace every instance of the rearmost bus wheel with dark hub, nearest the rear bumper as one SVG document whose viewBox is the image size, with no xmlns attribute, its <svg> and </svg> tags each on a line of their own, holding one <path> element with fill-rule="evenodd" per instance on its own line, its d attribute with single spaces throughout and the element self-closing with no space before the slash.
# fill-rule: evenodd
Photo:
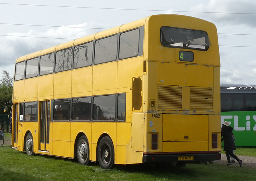
<svg viewBox="0 0 256 181">
<path fill-rule="evenodd" d="M 98 145 L 98 161 L 102 169 L 112 169 L 114 165 L 114 146 L 110 137 L 104 137 Z"/>
</svg>

